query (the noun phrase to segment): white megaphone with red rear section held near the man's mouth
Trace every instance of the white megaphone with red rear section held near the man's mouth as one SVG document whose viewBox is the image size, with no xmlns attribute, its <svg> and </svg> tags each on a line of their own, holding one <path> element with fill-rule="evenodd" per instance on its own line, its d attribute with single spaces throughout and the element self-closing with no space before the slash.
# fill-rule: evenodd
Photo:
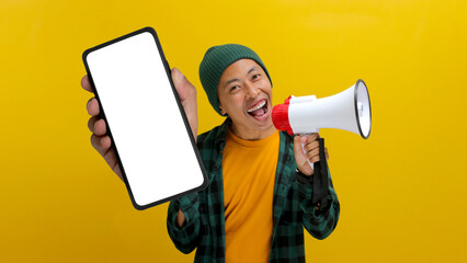
<svg viewBox="0 0 467 263">
<path fill-rule="evenodd" d="M 332 96 L 289 96 L 272 112 L 274 126 L 293 134 L 318 133 L 320 128 L 344 129 L 367 139 L 372 130 L 372 106 L 363 80 Z"/>
</svg>

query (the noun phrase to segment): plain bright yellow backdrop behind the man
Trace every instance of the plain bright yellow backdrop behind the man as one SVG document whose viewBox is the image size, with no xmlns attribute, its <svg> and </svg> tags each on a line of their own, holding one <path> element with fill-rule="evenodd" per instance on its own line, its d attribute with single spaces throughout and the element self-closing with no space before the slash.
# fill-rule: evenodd
<svg viewBox="0 0 467 263">
<path fill-rule="evenodd" d="M 167 204 L 134 209 L 87 127 L 82 52 L 152 26 L 198 89 L 200 133 L 223 119 L 197 75 L 213 45 L 257 50 L 274 103 L 365 80 L 369 139 L 321 130 L 342 210 L 328 239 L 307 235 L 310 262 L 466 262 L 466 13 L 460 0 L 0 1 L 0 261 L 193 261 Z"/>
</svg>

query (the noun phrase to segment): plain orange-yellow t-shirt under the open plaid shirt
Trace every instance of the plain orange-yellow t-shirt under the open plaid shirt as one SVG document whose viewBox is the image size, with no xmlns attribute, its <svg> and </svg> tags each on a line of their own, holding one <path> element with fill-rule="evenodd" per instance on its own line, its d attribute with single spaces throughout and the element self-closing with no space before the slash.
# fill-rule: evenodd
<svg viewBox="0 0 467 263">
<path fill-rule="evenodd" d="M 280 134 L 243 140 L 230 130 L 223 151 L 226 262 L 267 262 Z"/>
</svg>

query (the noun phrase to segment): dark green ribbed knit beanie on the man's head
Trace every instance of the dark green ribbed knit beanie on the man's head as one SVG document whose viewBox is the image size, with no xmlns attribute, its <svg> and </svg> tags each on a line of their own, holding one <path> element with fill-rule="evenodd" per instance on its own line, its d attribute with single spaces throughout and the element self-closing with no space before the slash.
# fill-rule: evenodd
<svg viewBox="0 0 467 263">
<path fill-rule="evenodd" d="M 219 99 L 217 94 L 217 87 L 219 85 L 220 76 L 223 76 L 224 70 L 226 70 L 230 64 L 242 58 L 253 59 L 255 62 L 258 62 L 263 68 L 264 72 L 266 72 L 267 78 L 271 81 L 270 73 L 266 70 L 266 67 L 264 67 L 263 61 L 261 61 L 261 58 L 253 50 L 242 45 L 227 44 L 213 46 L 207 49 L 203 61 L 201 61 L 201 83 L 203 84 L 210 105 L 213 105 L 214 110 L 220 115 Z"/>
</svg>

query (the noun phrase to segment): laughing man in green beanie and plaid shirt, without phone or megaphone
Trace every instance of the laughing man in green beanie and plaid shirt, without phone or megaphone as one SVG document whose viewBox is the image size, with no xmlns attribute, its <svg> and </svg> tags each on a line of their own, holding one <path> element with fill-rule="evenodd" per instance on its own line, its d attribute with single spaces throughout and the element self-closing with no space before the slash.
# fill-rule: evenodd
<svg viewBox="0 0 467 263">
<path fill-rule="evenodd" d="M 172 78 L 196 135 L 196 91 L 178 69 Z M 169 236 L 184 253 L 197 249 L 195 262 L 305 262 L 304 226 L 323 239 L 340 213 L 332 183 L 326 207 L 311 202 L 307 160 L 319 161 L 318 135 L 293 138 L 274 128 L 271 78 L 248 47 L 209 48 L 200 78 L 214 110 L 227 118 L 197 137 L 209 185 L 170 203 Z M 82 85 L 90 90 L 86 78 Z M 88 112 L 92 145 L 121 176 L 95 100 Z"/>
</svg>

